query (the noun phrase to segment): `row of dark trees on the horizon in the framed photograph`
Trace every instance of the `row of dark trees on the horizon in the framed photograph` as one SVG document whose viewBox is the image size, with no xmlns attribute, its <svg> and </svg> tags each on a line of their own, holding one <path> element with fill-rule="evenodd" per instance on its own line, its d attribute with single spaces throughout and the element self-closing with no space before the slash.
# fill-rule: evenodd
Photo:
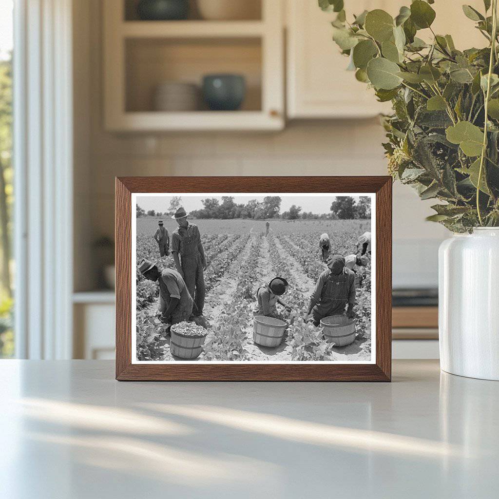
<svg viewBox="0 0 499 499">
<path fill-rule="evenodd" d="M 236 203 L 233 196 L 222 196 L 222 202 L 216 198 L 201 200 L 203 208 L 192 210 L 190 216 L 194 219 L 282 219 L 282 220 L 354 220 L 371 218 L 371 200 L 361 196 L 357 202 L 351 196 L 341 196 L 331 203 L 329 213 L 312 213 L 302 211 L 301 206 L 292 205 L 288 211 L 280 213 L 281 198 L 266 196 L 263 201 L 251 199 L 248 203 Z M 170 208 L 166 212 L 155 210 L 145 211 L 137 205 L 137 217 L 167 217 L 172 216 L 182 205 L 182 198 L 174 196 Z"/>
</svg>

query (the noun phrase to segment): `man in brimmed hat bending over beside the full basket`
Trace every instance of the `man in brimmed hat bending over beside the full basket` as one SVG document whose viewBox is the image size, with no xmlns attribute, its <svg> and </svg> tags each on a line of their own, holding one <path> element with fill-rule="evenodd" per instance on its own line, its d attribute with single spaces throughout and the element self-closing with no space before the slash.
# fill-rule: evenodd
<svg viewBox="0 0 499 499">
<path fill-rule="evenodd" d="M 158 312 L 163 322 L 177 324 L 189 320 L 193 300 L 177 270 L 165 268 L 160 272 L 155 263 L 143 258 L 139 263 L 139 271 L 146 279 L 159 282 Z"/>
</svg>

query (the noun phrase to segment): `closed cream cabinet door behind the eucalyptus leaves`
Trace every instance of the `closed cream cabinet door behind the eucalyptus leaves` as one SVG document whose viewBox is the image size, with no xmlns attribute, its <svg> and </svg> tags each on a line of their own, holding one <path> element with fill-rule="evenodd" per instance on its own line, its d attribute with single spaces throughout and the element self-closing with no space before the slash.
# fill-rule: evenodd
<svg viewBox="0 0 499 499">
<path fill-rule="evenodd" d="M 347 15 L 381 8 L 395 16 L 404 3 L 410 4 L 400 0 L 346 2 Z M 482 0 L 467 3 L 484 9 Z M 460 3 L 437 1 L 432 7 L 437 13 L 432 26 L 436 33 L 451 34 L 459 49 L 484 46 L 485 38 L 464 15 Z M 357 81 L 353 71 L 346 71 L 348 58 L 331 38 L 336 13 L 323 12 L 313 0 L 287 0 L 286 13 L 288 118 L 362 118 L 391 111 L 389 102 L 377 102 L 374 90 Z M 418 36 L 428 39 L 432 35 L 423 30 Z"/>
</svg>

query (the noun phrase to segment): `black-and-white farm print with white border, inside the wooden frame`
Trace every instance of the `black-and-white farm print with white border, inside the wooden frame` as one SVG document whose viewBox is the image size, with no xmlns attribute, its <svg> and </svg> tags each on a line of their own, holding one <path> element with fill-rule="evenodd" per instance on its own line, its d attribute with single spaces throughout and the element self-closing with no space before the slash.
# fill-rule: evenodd
<svg viewBox="0 0 499 499">
<path fill-rule="evenodd" d="M 374 205 L 132 194 L 132 362 L 373 363 Z"/>
</svg>

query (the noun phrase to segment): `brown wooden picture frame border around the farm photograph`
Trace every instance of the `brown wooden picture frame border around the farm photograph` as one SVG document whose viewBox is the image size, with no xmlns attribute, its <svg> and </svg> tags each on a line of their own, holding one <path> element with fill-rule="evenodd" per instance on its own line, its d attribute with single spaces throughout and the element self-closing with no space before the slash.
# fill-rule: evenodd
<svg viewBox="0 0 499 499">
<path fill-rule="evenodd" d="M 370 193 L 375 196 L 373 363 L 132 363 L 132 193 Z M 134 207 L 135 208 L 135 207 Z M 119 381 L 390 381 L 392 179 L 345 177 L 117 177 L 116 379 Z M 133 266 L 132 266 L 133 263 Z"/>
</svg>

